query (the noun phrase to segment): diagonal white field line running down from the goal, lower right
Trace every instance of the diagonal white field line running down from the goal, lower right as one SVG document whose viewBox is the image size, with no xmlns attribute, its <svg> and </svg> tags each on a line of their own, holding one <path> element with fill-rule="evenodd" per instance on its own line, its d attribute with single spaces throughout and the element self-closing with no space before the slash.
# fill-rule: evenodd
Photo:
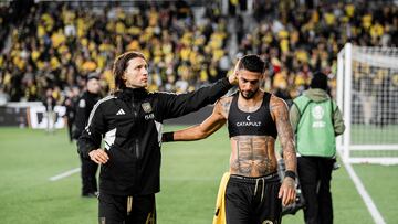
<svg viewBox="0 0 398 224">
<path fill-rule="evenodd" d="M 375 203 L 366 191 L 364 184 L 360 182 L 360 179 L 355 173 L 353 167 L 348 162 L 344 162 L 345 169 L 347 170 L 350 179 L 353 180 L 355 188 L 357 189 L 359 195 L 363 198 L 366 207 L 370 212 L 371 217 L 374 218 L 376 224 L 386 224 L 380 212 L 377 210 Z"/>
</svg>

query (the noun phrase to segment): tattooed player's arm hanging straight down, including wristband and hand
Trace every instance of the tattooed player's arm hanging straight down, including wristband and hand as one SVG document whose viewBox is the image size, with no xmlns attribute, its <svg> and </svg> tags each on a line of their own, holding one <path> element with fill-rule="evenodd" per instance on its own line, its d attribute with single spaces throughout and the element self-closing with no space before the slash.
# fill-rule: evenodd
<svg viewBox="0 0 398 224">
<path fill-rule="evenodd" d="M 295 201 L 295 171 L 297 159 L 294 149 L 294 138 L 292 126 L 289 120 L 289 109 L 286 103 L 272 96 L 271 113 L 275 120 L 277 136 L 283 151 L 283 160 L 286 166 L 285 178 L 283 179 L 279 198 L 282 198 L 282 204 L 287 205 Z"/>
</svg>

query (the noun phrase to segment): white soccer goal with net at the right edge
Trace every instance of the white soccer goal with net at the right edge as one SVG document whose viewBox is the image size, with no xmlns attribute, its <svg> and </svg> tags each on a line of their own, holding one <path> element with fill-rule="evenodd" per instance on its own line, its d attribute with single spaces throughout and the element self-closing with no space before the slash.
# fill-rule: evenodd
<svg viewBox="0 0 398 224">
<path fill-rule="evenodd" d="M 337 57 L 337 105 L 346 130 L 337 149 L 350 163 L 398 163 L 398 49 L 347 43 Z"/>
</svg>

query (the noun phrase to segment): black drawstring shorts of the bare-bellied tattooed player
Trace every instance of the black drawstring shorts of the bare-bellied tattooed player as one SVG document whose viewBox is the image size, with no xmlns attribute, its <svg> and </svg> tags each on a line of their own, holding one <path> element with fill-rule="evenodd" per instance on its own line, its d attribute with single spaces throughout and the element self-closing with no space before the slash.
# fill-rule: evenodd
<svg viewBox="0 0 398 224">
<path fill-rule="evenodd" d="M 226 190 L 227 224 L 281 223 L 279 174 L 248 178 L 231 174 Z"/>
</svg>

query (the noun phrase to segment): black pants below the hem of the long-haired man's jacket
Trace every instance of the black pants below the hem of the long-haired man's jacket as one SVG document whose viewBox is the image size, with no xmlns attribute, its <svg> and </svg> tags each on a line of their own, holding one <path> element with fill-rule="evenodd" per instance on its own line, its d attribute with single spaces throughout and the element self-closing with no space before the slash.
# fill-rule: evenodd
<svg viewBox="0 0 398 224">
<path fill-rule="evenodd" d="M 100 193 L 100 224 L 155 224 L 155 194 L 119 196 Z"/>
</svg>

